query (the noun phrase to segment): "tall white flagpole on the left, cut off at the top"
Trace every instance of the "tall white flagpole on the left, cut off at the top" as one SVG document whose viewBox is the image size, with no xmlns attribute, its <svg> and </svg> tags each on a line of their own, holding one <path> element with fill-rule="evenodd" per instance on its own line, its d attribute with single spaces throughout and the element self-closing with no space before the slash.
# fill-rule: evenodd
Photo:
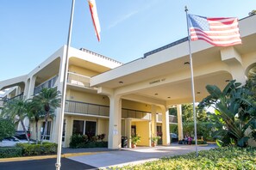
<svg viewBox="0 0 256 170">
<path fill-rule="evenodd" d="M 70 24 L 67 37 L 67 46 L 66 46 L 66 56 L 65 58 L 65 69 L 64 69 L 64 79 L 62 87 L 62 96 L 61 96 L 61 111 L 59 116 L 59 137 L 58 137 L 58 151 L 57 151 L 57 161 L 55 163 L 56 170 L 60 169 L 60 159 L 61 159 L 61 147 L 62 147 L 62 131 L 63 131 L 63 122 L 64 122 L 64 112 L 65 112 L 65 103 L 66 103 L 66 79 L 67 79 L 67 70 L 68 70 L 68 52 L 71 45 L 72 39 L 72 23 L 73 23 L 73 13 L 75 8 L 75 0 L 72 0 L 72 10 L 70 17 Z"/>
</svg>

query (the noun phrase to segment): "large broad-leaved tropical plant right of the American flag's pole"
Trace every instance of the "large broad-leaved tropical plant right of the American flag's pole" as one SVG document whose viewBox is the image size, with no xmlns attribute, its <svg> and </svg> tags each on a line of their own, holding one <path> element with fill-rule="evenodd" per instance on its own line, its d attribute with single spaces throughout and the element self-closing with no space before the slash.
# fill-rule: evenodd
<svg viewBox="0 0 256 170">
<path fill-rule="evenodd" d="M 246 131 L 256 128 L 256 105 L 252 91 L 235 81 L 229 82 L 223 90 L 215 85 L 207 85 L 206 88 L 209 96 L 199 106 L 215 108 L 215 112 L 209 113 L 215 128 L 213 136 L 222 140 L 223 145 L 234 143 L 240 147 L 247 146 L 250 134 Z"/>
</svg>

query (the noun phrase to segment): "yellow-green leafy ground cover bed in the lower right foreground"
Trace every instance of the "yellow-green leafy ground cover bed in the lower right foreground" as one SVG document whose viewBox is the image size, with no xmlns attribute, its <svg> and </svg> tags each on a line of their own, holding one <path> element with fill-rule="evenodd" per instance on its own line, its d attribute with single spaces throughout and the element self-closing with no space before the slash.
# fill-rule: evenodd
<svg viewBox="0 0 256 170">
<path fill-rule="evenodd" d="M 256 148 L 226 147 L 199 151 L 187 155 L 178 155 L 151 161 L 137 166 L 126 166 L 112 169 L 255 169 Z"/>
</svg>

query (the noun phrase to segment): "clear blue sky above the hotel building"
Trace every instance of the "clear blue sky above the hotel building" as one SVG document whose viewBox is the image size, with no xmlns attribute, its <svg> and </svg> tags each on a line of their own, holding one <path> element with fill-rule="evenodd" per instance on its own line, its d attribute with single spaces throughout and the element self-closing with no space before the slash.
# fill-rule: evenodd
<svg viewBox="0 0 256 170">
<path fill-rule="evenodd" d="M 96 0 L 101 24 L 97 42 L 87 0 L 76 0 L 72 47 L 84 47 L 128 63 L 187 36 L 190 14 L 236 16 L 256 9 L 255 0 Z M 72 0 L 2 0 L 0 81 L 28 74 L 66 44 Z"/>
</svg>

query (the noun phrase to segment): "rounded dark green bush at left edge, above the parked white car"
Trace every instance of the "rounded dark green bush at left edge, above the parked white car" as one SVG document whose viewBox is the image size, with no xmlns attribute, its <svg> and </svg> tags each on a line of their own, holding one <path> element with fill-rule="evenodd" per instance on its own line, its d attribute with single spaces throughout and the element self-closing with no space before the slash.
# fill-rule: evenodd
<svg viewBox="0 0 256 170">
<path fill-rule="evenodd" d="M 15 124 L 11 123 L 8 119 L 0 118 L 0 142 L 5 137 L 12 137 L 16 132 Z"/>
</svg>

